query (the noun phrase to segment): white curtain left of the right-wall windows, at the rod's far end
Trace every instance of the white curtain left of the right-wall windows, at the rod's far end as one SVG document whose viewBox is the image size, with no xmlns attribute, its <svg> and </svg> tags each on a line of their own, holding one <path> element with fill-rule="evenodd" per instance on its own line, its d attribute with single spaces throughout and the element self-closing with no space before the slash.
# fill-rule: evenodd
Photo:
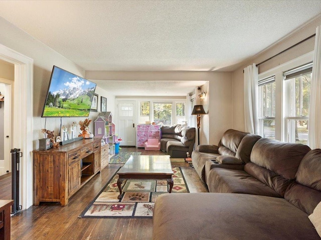
<svg viewBox="0 0 321 240">
<path fill-rule="evenodd" d="M 258 119 L 258 79 L 256 64 L 244 68 L 244 117 L 245 131 L 259 133 Z"/>
</svg>

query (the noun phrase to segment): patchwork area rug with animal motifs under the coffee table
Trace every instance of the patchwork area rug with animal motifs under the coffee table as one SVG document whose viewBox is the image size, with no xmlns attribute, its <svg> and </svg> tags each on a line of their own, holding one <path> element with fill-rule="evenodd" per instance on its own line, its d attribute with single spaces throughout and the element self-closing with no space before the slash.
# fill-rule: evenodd
<svg viewBox="0 0 321 240">
<path fill-rule="evenodd" d="M 190 192 L 181 168 L 173 167 L 173 171 L 174 186 L 171 194 Z M 169 190 L 166 180 L 124 180 L 122 198 L 119 200 L 117 179 L 116 172 L 79 217 L 152 218 L 156 198 Z"/>
</svg>

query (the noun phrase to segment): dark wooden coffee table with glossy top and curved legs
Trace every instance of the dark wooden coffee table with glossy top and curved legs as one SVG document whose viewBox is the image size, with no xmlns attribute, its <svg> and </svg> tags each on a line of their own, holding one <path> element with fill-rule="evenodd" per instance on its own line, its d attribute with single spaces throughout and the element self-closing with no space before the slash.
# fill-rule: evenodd
<svg viewBox="0 0 321 240">
<path fill-rule="evenodd" d="M 121 183 L 124 179 L 166 179 L 172 192 L 174 174 L 170 155 L 130 155 L 126 163 L 117 172 L 119 178 L 118 199 L 121 198 Z"/>
</svg>

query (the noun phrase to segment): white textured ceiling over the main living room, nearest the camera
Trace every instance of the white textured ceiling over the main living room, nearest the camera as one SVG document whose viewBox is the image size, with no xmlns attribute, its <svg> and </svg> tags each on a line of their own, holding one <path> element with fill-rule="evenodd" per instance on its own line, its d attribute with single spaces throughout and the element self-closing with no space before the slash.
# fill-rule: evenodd
<svg viewBox="0 0 321 240">
<path fill-rule="evenodd" d="M 320 13 L 320 0 L 0 1 L 1 17 L 85 70 L 234 70 Z"/>
</svg>

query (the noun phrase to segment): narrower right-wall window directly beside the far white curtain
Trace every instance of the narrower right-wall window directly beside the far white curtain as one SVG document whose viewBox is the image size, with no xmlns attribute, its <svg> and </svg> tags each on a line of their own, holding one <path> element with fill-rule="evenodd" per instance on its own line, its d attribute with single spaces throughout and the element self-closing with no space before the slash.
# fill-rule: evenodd
<svg viewBox="0 0 321 240">
<path fill-rule="evenodd" d="M 275 139 L 275 76 L 259 80 L 258 85 L 260 135 Z"/>
</svg>

